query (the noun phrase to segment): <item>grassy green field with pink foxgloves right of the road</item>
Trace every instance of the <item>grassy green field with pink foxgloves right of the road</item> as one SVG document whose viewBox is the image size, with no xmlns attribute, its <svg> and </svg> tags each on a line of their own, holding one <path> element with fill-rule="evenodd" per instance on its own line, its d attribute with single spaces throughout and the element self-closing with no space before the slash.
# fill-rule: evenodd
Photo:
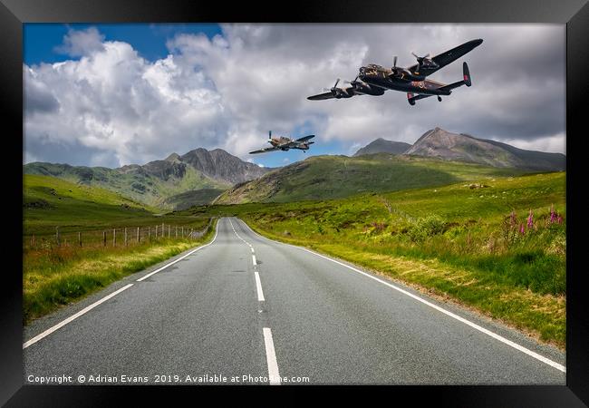
<svg viewBox="0 0 589 408">
<path fill-rule="evenodd" d="M 185 213 L 237 215 L 269 238 L 347 259 L 565 347 L 564 172 Z"/>
</svg>

